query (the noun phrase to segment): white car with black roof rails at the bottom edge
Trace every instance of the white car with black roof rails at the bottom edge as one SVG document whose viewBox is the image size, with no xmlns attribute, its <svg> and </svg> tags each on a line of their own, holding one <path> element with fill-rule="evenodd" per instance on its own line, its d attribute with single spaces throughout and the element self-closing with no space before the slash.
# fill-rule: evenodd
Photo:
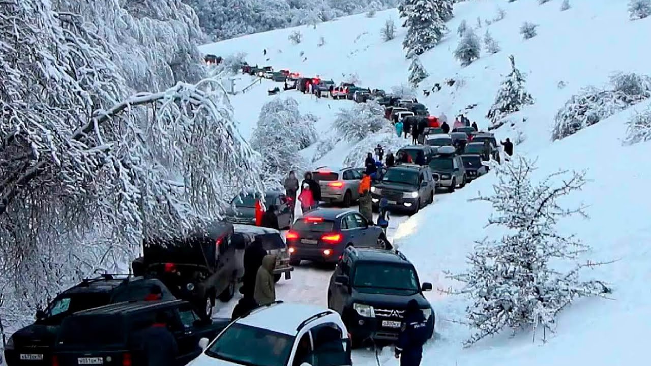
<svg viewBox="0 0 651 366">
<path fill-rule="evenodd" d="M 187 366 L 350 366 L 350 337 L 339 314 L 275 302 L 234 320 Z M 334 360 L 334 363 L 333 363 Z"/>
</svg>

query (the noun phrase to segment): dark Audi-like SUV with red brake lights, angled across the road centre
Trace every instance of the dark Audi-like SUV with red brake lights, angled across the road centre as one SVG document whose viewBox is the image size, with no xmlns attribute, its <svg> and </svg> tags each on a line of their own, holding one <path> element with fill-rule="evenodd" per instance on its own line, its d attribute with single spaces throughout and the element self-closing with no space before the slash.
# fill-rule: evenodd
<svg viewBox="0 0 651 366">
<path fill-rule="evenodd" d="M 290 265 L 301 260 L 337 263 L 348 246 L 389 246 L 382 228 L 355 210 L 321 208 L 305 214 L 286 234 Z"/>
</svg>

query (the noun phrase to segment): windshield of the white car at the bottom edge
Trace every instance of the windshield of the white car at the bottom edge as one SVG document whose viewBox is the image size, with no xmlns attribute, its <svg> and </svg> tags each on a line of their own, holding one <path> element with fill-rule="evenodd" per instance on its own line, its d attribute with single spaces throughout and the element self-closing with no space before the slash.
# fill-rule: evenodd
<svg viewBox="0 0 651 366">
<path fill-rule="evenodd" d="M 293 345 L 291 335 L 235 323 L 219 335 L 206 355 L 238 365 L 278 366 L 287 363 Z"/>
</svg>

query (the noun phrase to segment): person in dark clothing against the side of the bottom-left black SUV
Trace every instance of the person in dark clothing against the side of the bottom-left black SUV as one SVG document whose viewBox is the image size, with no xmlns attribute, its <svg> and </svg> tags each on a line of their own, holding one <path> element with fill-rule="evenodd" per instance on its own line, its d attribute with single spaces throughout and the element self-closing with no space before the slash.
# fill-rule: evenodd
<svg viewBox="0 0 651 366">
<path fill-rule="evenodd" d="M 167 329 L 169 319 L 164 312 L 156 313 L 151 326 L 133 334 L 132 342 L 141 352 L 146 366 L 176 366 L 178 344 L 171 331 Z"/>
</svg>

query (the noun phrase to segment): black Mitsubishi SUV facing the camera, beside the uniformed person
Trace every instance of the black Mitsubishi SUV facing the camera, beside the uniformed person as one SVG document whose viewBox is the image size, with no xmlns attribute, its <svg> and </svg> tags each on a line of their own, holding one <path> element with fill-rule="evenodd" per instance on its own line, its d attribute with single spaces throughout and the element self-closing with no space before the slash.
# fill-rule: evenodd
<svg viewBox="0 0 651 366">
<path fill-rule="evenodd" d="M 422 292 L 431 283 L 419 282 L 413 264 L 399 251 L 346 249 L 330 277 L 327 307 L 337 311 L 353 345 L 367 339 L 394 341 L 400 333 L 409 300 L 419 303 L 434 334 L 434 310 Z"/>
</svg>

